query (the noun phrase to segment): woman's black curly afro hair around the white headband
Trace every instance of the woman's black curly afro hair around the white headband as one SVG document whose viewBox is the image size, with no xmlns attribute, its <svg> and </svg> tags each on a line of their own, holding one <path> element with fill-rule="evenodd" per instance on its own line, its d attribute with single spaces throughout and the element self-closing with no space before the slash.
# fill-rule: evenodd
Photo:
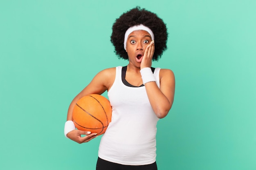
<svg viewBox="0 0 256 170">
<path fill-rule="evenodd" d="M 128 60 L 128 54 L 124 49 L 124 35 L 131 26 L 143 24 L 150 28 L 155 35 L 155 52 L 153 61 L 157 61 L 167 49 L 167 28 L 166 24 L 155 13 L 136 7 L 123 13 L 115 20 L 112 26 L 110 40 L 115 47 L 115 53 L 119 58 Z"/>
</svg>

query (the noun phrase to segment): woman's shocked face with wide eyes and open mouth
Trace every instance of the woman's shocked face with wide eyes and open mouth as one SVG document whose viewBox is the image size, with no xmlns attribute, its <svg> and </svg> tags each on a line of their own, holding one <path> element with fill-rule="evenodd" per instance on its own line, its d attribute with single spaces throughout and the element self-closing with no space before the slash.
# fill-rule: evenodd
<svg viewBox="0 0 256 170">
<path fill-rule="evenodd" d="M 136 30 L 128 35 L 126 52 L 130 65 L 140 67 L 145 49 L 151 41 L 150 34 L 144 30 Z"/>
</svg>

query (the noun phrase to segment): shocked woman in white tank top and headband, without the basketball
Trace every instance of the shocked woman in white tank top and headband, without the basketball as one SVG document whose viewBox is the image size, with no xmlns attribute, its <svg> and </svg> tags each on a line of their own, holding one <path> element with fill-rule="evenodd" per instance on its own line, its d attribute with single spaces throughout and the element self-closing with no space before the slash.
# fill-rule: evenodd
<svg viewBox="0 0 256 170">
<path fill-rule="evenodd" d="M 111 42 L 128 65 L 99 72 L 71 102 L 65 135 L 88 142 L 97 134 L 76 130 L 72 110 L 81 97 L 108 91 L 112 121 L 101 138 L 97 170 L 157 170 L 156 125 L 171 109 L 175 78 L 171 70 L 151 65 L 166 41 L 166 25 L 155 13 L 136 7 L 122 14 L 112 26 Z"/>
</svg>

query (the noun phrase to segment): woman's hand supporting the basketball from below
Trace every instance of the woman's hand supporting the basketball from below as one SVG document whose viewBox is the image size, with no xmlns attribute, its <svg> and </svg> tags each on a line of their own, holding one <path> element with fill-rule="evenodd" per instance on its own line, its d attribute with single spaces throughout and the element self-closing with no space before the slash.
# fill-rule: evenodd
<svg viewBox="0 0 256 170">
<path fill-rule="evenodd" d="M 86 136 L 82 137 L 81 135 L 86 135 Z M 79 144 L 82 144 L 97 137 L 97 133 L 91 133 L 89 131 L 83 131 L 83 130 L 72 130 L 67 133 L 67 137 Z"/>
</svg>

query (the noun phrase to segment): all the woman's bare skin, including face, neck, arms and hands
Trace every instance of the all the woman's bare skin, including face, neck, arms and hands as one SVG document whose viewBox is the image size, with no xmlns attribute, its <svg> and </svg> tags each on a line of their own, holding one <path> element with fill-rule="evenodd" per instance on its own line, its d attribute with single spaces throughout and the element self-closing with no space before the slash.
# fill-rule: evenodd
<svg viewBox="0 0 256 170">
<path fill-rule="evenodd" d="M 134 86 L 143 84 L 140 70 L 151 67 L 152 57 L 155 51 L 155 44 L 150 34 L 144 30 L 137 30 L 130 33 L 127 40 L 126 52 L 128 53 L 129 64 L 127 65 L 126 81 Z M 141 59 L 137 55 L 142 55 Z M 81 97 L 89 94 L 101 95 L 109 91 L 115 81 L 116 68 L 108 68 L 99 72 L 71 102 L 67 113 L 67 120 L 72 120 L 72 110 Z M 156 82 L 145 84 L 149 102 L 158 118 L 164 118 L 168 114 L 174 99 L 175 77 L 171 70 L 161 69 L 159 72 L 160 88 Z M 82 137 L 81 135 L 86 135 Z M 67 137 L 77 143 L 85 143 L 94 139 L 97 134 L 82 130 L 72 130 Z"/>
</svg>

